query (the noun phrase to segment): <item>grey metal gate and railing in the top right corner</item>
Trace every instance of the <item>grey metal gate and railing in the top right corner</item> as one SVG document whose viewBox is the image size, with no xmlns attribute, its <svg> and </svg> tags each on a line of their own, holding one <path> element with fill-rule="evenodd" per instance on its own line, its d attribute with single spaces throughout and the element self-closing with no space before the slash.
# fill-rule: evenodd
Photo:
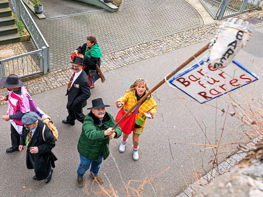
<svg viewBox="0 0 263 197">
<path fill-rule="evenodd" d="M 256 9 L 259 0 L 199 0 L 214 19 L 232 17 L 242 12 Z"/>
</svg>

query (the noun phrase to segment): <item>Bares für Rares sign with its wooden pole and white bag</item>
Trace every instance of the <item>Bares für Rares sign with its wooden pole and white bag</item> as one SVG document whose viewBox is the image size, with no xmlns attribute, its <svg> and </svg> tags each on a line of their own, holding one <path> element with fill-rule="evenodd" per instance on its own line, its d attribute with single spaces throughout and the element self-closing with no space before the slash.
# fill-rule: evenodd
<svg viewBox="0 0 263 197">
<path fill-rule="evenodd" d="M 158 87 L 167 82 L 167 80 L 174 76 L 176 72 L 184 68 L 207 49 L 210 49 L 211 64 L 202 62 L 202 64 L 204 64 L 204 73 L 202 73 L 202 68 L 199 65 L 194 65 L 183 74 L 180 74 L 180 79 L 179 76 L 177 76 L 170 80 L 170 83 L 179 89 L 181 88 L 182 91 L 200 103 L 204 103 L 215 97 L 221 96 L 228 91 L 235 90 L 238 87 L 256 81 L 258 77 L 244 66 L 236 61 L 231 63 L 235 55 L 243 46 L 245 46 L 247 40 L 251 37 L 250 33 L 253 30 L 252 24 L 249 26 L 249 23 L 245 22 L 245 25 L 241 25 L 243 22 L 242 19 L 238 20 L 237 24 L 235 24 L 236 20 L 236 18 L 232 20 L 231 18 L 228 19 L 222 26 L 222 31 L 217 36 L 217 39 L 211 40 L 210 43 L 206 44 L 202 49 L 197 51 L 178 68 L 166 75 L 163 80 L 161 80 L 153 87 L 153 89 L 151 89 L 137 103 L 135 103 L 135 105 L 132 106 L 122 118 L 120 118 L 112 129 L 116 128 L 119 123 L 122 122 L 137 105 L 139 105 L 139 103 L 153 93 Z M 231 66 L 227 66 L 228 64 L 232 65 L 233 68 Z M 224 67 L 227 69 L 222 71 L 220 68 Z M 206 70 L 210 70 L 211 72 L 206 72 Z M 191 74 L 191 72 L 193 72 L 193 74 Z M 232 78 L 230 76 L 232 76 Z"/>
</svg>

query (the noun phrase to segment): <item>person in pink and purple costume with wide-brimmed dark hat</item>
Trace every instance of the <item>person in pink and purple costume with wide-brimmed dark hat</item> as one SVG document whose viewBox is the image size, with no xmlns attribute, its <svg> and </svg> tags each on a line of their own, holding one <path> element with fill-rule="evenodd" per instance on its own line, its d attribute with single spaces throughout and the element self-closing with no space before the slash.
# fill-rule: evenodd
<svg viewBox="0 0 263 197">
<path fill-rule="evenodd" d="M 8 108 L 6 115 L 2 119 L 11 123 L 11 144 L 12 147 L 6 149 L 7 153 L 18 151 L 20 144 L 20 135 L 22 133 L 23 124 L 21 118 L 29 111 L 37 112 L 42 117 L 42 112 L 28 94 L 23 83 L 18 79 L 17 75 L 11 74 L 1 79 L 0 84 L 7 88 L 8 95 L 0 96 L 1 101 L 8 100 Z"/>
</svg>

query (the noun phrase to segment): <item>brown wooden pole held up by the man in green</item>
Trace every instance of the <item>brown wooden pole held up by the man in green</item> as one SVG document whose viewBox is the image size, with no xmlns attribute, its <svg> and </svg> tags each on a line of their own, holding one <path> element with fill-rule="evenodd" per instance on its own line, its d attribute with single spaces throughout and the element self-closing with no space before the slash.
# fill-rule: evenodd
<svg viewBox="0 0 263 197">
<path fill-rule="evenodd" d="M 178 68 L 176 68 L 175 71 L 171 72 L 169 75 L 166 76 L 166 80 L 170 79 L 172 76 L 174 76 L 174 74 L 176 72 L 178 72 L 179 70 L 181 70 L 182 68 L 184 68 L 187 64 L 189 64 L 191 61 L 193 61 L 196 57 L 198 57 L 199 55 L 201 55 L 202 53 L 204 53 L 209 46 L 210 43 L 208 43 L 207 45 L 205 45 L 202 49 L 200 49 L 199 51 L 197 51 L 193 56 L 191 56 L 188 60 L 186 60 L 183 64 L 181 64 Z M 156 86 L 153 87 L 153 89 L 151 89 L 146 95 L 144 95 L 133 107 L 130 108 L 129 111 L 127 111 L 127 113 L 116 123 L 116 125 L 114 125 L 114 127 L 112 127 L 112 130 L 115 129 L 120 122 L 122 122 L 122 120 L 137 106 L 139 105 L 139 103 L 141 103 L 145 98 L 147 98 L 151 93 L 153 93 L 158 87 L 160 87 L 162 84 L 165 83 L 165 80 L 161 80 Z"/>
</svg>

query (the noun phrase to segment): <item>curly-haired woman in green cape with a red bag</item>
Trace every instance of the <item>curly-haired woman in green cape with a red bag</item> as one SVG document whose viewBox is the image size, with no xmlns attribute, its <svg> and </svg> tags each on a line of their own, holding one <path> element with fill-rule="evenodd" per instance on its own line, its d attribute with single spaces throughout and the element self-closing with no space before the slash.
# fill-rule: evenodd
<svg viewBox="0 0 263 197">
<path fill-rule="evenodd" d="M 90 88 L 93 88 L 95 86 L 95 81 L 101 78 L 102 75 L 100 69 L 98 69 L 100 68 L 100 58 L 102 57 L 102 54 L 100 51 L 100 47 L 97 43 L 96 37 L 88 36 L 87 43 L 83 44 L 82 46 L 79 46 L 74 51 L 74 53 L 81 53 L 83 55 L 83 64 L 85 65 L 85 68 L 83 70 L 88 76 Z M 95 77 L 93 76 L 94 78 L 90 77 L 92 71 L 96 71 Z M 102 82 L 104 81 L 102 80 Z"/>
</svg>

